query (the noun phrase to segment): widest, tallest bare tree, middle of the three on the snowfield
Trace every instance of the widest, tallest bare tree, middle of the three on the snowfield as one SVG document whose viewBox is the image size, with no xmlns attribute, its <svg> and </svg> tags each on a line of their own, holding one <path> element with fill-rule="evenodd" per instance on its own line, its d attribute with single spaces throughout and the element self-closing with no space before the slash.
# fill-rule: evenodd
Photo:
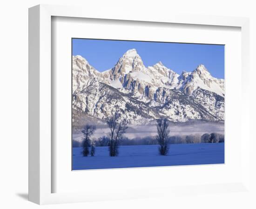
<svg viewBox="0 0 256 209">
<path fill-rule="evenodd" d="M 118 155 L 119 140 L 122 138 L 126 129 L 128 128 L 128 121 L 121 119 L 119 113 L 115 113 L 112 117 L 106 120 L 109 132 L 109 155 L 115 157 Z"/>
</svg>

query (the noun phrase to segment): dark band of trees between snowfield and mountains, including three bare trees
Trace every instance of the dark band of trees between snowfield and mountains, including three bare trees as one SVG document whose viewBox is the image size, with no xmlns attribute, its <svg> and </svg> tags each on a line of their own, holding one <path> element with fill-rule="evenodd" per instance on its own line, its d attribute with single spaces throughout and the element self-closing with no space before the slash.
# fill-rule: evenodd
<svg viewBox="0 0 256 209">
<path fill-rule="evenodd" d="M 129 139 L 124 137 L 128 128 L 128 121 L 121 118 L 120 113 L 115 113 L 112 117 L 106 119 L 108 125 L 108 136 L 102 136 L 93 139 L 92 135 L 96 130 L 95 125 L 86 124 L 83 129 L 82 142 L 73 140 L 73 147 L 82 147 L 83 156 L 94 156 L 95 147 L 108 146 L 109 156 L 116 157 L 119 154 L 120 145 L 153 145 L 158 144 L 160 155 L 167 155 L 169 144 L 196 144 L 196 143 L 222 143 L 224 135 L 219 133 L 205 133 L 185 136 L 170 136 L 169 122 L 166 118 L 156 120 L 157 135 L 155 137 L 142 137 Z"/>
</svg>

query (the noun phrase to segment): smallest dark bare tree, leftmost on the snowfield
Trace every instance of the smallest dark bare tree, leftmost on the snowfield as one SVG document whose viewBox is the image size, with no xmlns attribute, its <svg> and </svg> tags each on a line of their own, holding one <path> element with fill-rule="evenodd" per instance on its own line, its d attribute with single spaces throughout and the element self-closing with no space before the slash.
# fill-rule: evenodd
<svg viewBox="0 0 256 209">
<path fill-rule="evenodd" d="M 94 134 L 94 131 L 96 130 L 96 126 L 95 125 L 89 125 L 86 124 L 83 129 L 82 129 L 82 133 L 83 133 L 83 141 L 82 141 L 82 154 L 83 156 L 87 157 L 89 154 L 89 147 L 91 146 L 91 139 L 90 137 Z"/>
</svg>

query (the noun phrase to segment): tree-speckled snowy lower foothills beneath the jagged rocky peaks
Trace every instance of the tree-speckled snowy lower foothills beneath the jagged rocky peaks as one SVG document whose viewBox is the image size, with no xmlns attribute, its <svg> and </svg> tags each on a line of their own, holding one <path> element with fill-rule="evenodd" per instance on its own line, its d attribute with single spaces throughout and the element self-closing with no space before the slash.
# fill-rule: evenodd
<svg viewBox="0 0 256 209">
<path fill-rule="evenodd" d="M 160 96 L 163 94 L 162 91 L 166 92 L 165 98 Z M 130 124 L 148 124 L 162 117 L 174 122 L 191 119 L 220 120 L 194 98 L 181 91 L 159 88 L 157 94 L 159 96 L 156 96 L 156 103 L 159 105 L 153 106 L 132 98 L 130 93 L 122 93 L 110 85 L 92 79 L 83 86 L 82 91 L 73 94 L 73 108 L 99 119 L 106 119 L 118 111 Z"/>
</svg>

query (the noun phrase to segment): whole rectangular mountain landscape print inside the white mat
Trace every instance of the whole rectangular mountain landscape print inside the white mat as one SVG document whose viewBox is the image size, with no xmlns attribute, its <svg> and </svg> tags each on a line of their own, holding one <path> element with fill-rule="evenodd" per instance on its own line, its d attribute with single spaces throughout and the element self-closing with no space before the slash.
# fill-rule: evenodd
<svg viewBox="0 0 256 209">
<path fill-rule="evenodd" d="M 72 39 L 72 170 L 224 163 L 224 45 Z"/>
</svg>

